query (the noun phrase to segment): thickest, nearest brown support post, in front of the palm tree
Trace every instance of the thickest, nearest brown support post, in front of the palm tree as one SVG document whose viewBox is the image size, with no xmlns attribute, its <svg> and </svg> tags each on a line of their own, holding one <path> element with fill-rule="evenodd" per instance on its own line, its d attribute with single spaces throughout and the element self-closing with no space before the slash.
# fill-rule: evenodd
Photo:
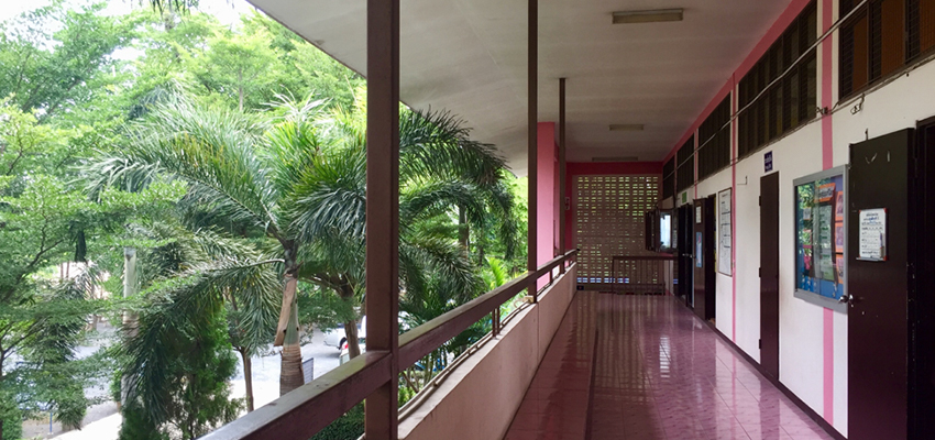
<svg viewBox="0 0 935 440">
<path fill-rule="evenodd" d="M 366 398 L 367 440 L 398 438 L 399 0 L 367 0 L 367 351 L 391 354 Z"/>
</svg>

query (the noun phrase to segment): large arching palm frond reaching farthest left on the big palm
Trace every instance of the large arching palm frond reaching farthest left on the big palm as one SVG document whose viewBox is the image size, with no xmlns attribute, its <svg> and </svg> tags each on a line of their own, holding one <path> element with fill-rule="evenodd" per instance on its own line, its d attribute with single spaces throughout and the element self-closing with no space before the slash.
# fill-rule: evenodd
<svg viewBox="0 0 935 440">
<path fill-rule="evenodd" d="M 142 185 L 163 174 L 190 184 L 187 202 L 276 234 L 279 194 L 266 175 L 267 164 L 254 153 L 262 144 L 256 133 L 263 130 L 254 120 L 185 100 L 154 106 L 148 118 L 131 124 L 127 147 L 91 166 L 101 176 L 91 188 Z"/>
</svg>

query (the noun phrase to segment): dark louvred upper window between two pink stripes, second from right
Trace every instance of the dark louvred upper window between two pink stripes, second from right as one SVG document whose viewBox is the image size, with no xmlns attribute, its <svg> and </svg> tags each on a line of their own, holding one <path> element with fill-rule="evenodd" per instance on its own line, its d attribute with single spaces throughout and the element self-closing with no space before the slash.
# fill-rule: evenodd
<svg viewBox="0 0 935 440">
<path fill-rule="evenodd" d="M 815 117 L 817 58 L 812 46 L 817 32 L 817 7 L 813 1 L 740 79 L 740 156 Z"/>
</svg>

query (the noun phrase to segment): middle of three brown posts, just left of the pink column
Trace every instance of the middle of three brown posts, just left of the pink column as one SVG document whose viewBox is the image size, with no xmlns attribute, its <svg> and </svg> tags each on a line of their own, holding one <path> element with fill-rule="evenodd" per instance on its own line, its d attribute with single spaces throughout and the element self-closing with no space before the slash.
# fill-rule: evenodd
<svg viewBox="0 0 935 440">
<path fill-rule="evenodd" d="M 527 70 L 528 70 L 528 99 L 529 99 L 529 213 L 527 216 L 528 219 L 528 243 L 527 243 L 527 271 L 536 272 L 536 253 L 537 253 L 537 232 L 536 227 L 538 222 L 537 210 L 539 208 L 539 204 L 537 202 L 537 196 L 539 193 L 539 173 L 538 173 L 538 154 L 539 154 L 539 0 L 529 0 L 529 22 L 528 22 L 528 57 L 527 61 Z M 532 299 L 538 301 L 539 289 L 538 289 L 538 279 L 532 277 L 531 283 L 529 284 L 529 295 L 532 296 Z"/>
</svg>

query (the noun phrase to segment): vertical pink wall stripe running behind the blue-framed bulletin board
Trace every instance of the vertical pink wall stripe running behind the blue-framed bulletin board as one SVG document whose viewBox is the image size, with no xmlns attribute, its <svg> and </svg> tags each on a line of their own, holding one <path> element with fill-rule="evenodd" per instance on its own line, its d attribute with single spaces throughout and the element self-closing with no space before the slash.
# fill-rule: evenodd
<svg viewBox="0 0 935 440">
<path fill-rule="evenodd" d="M 834 15 L 834 0 L 822 1 L 822 33 L 827 32 L 832 28 Z M 833 41 L 826 38 L 822 42 L 822 107 L 831 109 L 833 94 Z M 834 131 L 832 125 L 832 116 L 826 114 L 822 118 L 822 168 L 828 169 L 834 165 Z M 834 311 L 824 309 L 824 418 L 834 425 Z"/>
</svg>

